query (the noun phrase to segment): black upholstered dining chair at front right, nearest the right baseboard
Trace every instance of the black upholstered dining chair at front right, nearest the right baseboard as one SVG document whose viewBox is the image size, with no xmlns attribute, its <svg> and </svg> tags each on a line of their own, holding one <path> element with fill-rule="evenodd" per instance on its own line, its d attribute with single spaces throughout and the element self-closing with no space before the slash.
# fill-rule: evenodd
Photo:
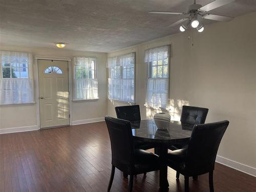
<svg viewBox="0 0 256 192">
<path fill-rule="evenodd" d="M 229 121 L 196 124 L 187 148 L 168 153 L 168 166 L 185 176 L 185 192 L 189 177 L 209 173 L 210 192 L 214 192 L 213 173 L 216 155 Z M 179 174 L 176 175 L 179 179 Z"/>
</svg>

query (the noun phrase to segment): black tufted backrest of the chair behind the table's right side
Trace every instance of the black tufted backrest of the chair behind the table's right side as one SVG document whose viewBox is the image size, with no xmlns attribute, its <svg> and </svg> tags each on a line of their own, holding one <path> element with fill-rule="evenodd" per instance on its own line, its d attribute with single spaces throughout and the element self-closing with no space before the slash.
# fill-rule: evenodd
<svg viewBox="0 0 256 192">
<path fill-rule="evenodd" d="M 207 108 L 183 105 L 180 121 L 189 124 L 203 124 L 205 122 L 207 113 Z"/>
</svg>

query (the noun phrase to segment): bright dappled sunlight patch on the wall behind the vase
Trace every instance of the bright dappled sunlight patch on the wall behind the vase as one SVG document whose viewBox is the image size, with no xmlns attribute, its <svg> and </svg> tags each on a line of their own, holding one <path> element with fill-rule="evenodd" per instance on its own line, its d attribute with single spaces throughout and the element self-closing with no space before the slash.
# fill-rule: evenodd
<svg viewBox="0 0 256 192">
<path fill-rule="evenodd" d="M 182 99 L 170 99 L 168 109 L 153 109 L 146 107 L 146 118 L 153 119 L 156 113 L 169 113 L 171 120 L 179 121 L 183 105 L 189 105 L 189 102 Z"/>
</svg>

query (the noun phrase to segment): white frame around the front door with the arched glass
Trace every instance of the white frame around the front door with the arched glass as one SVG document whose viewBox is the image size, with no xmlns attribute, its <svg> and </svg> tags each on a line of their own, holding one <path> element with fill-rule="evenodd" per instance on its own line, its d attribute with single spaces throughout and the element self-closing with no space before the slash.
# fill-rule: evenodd
<svg viewBox="0 0 256 192">
<path fill-rule="evenodd" d="M 44 56 L 44 55 L 35 55 L 35 65 L 34 65 L 34 78 L 35 78 L 35 102 L 36 102 L 36 124 L 37 129 L 40 130 L 40 101 L 39 101 L 39 78 L 38 78 L 38 59 L 43 60 L 61 60 L 61 61 L 68 61 L 68 76 L 69 76 L 69 124 L 73 124 L 73 80 L 72 80 L 72 65 L 71 65 L 71 58 L 70 57 L 53 57 L 53 56 Z"/>
</svg>

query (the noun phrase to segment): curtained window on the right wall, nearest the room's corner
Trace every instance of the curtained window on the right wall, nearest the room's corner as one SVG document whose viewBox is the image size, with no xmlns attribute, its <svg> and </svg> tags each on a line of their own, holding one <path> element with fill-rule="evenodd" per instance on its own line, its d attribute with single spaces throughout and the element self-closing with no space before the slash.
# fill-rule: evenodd
<svg viewBox="0 0 256 192">
<path fill-rule="evenodd" d="M 135 102 L 135 53 L 108 58 L 108 68 L 108 98 L 125 102 Z"/>
</svg>

